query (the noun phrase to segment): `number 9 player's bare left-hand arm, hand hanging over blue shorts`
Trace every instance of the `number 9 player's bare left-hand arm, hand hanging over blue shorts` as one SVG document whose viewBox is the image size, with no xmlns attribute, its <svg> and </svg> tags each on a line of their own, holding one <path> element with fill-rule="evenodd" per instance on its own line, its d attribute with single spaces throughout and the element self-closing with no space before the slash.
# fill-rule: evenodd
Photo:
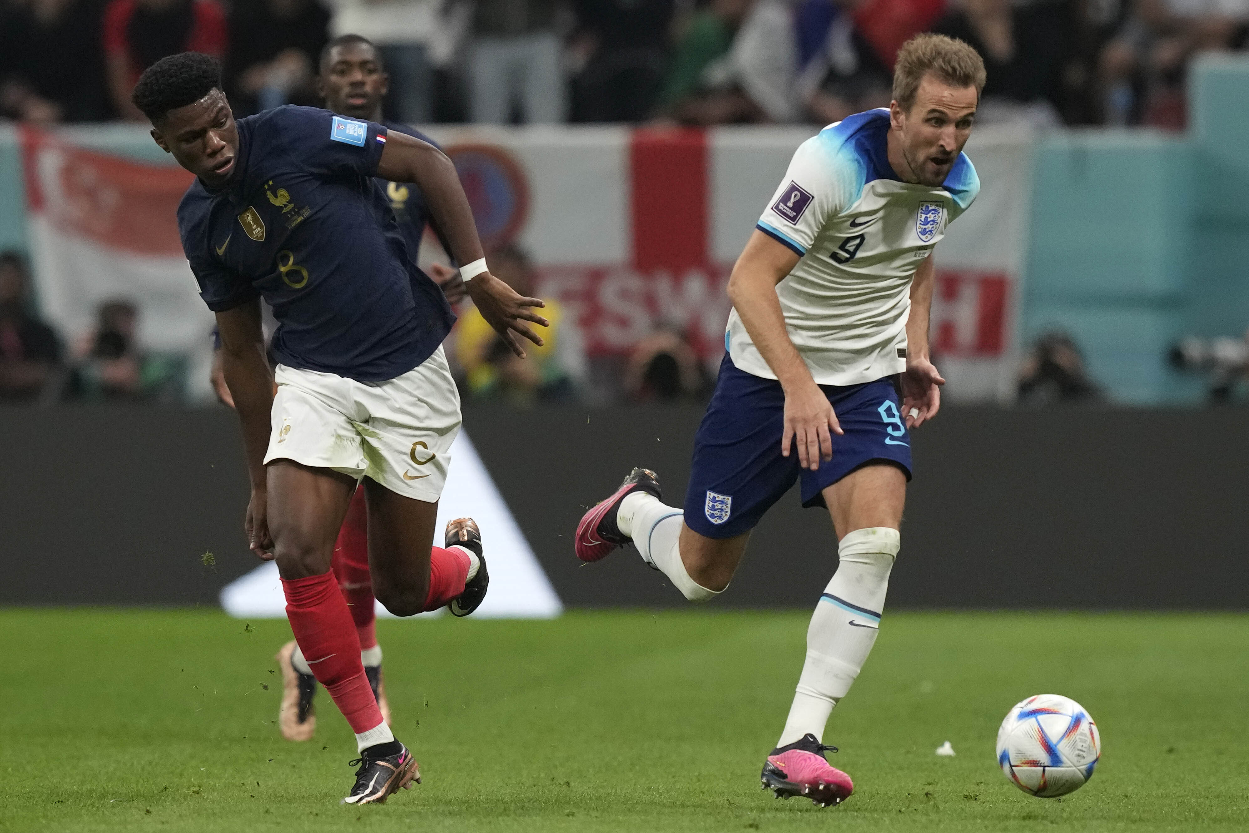
<svg viewBox="0 0 1249 833">
<path fill-rule="evenodd" d="M 828 397 L 816 385 L 798 348 L 784 328 L 784 313 L 777 283 L 798 265 L 798 255 L 756 230 L 737 259 L 728 278 L 728 297 L 746 325 L 746 332 L 784 390 L 784 431 L 781 453 L 798 446 L 803 468 L 819 468 L 821 460 L 833 458 L 829 431 L 842 433 Z"/>
</svg>

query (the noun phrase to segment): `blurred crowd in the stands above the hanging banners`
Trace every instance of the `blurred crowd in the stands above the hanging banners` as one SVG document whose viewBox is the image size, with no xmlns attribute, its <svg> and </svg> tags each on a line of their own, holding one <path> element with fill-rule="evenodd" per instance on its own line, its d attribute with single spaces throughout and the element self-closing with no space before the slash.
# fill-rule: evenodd
<svg viewBox="0 0 1249 833">
<path fill-rule="evenodd" d="M 1184 71 L 1249 0 L 0 0 L 0 115 L 140 120 L 139 74 L 221 57 L 240 115 L 317 104 L 328 37 L 381 47 L 406 122 L 827 124 L 887 105 L 921 31 L 984 56 L 982 119 L 1184 126 Z"/>
</svg>

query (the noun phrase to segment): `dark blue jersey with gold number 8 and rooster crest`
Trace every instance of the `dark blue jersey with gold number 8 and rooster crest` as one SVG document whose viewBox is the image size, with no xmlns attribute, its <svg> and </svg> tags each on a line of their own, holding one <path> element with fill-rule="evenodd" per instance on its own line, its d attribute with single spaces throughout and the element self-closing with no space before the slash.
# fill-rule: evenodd
<svg viewBox="0 0 1249 833">
<path fill-rule="evenodd" d="M 386 127 L 294 106 L 237 124 L 230 184 L 196 180 L 177 210 L 209 308 L 264 296 L 289 367 L 377 382 L 428 358 L 455 316 L 373 180 Z"/>
</svg>

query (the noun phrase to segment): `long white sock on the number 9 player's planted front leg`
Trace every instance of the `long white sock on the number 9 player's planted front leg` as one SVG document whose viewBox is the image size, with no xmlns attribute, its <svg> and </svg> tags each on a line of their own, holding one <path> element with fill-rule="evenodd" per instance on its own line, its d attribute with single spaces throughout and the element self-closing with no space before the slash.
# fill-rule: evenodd
<svg viewBox="0 0 1249 833">
<path fill-rule="evenodd" d="M 811 733 L 823 739 L 824 724 L 858 677 L 879 632 L 889 571 L 902 538 L 897 530 L 871 527 L 842 538 L 841 563 L 807 628 L 807 661 L 778 747 Z"/>
</svg>

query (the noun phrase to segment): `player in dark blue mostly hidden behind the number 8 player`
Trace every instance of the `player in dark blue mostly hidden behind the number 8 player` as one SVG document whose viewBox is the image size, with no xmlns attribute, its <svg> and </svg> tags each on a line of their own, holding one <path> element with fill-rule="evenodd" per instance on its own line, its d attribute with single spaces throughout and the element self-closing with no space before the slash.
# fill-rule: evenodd
<svg viewBox="0 0 1249 833">
<path fill-rule="evenodd" d="M 386 95 L 390 77 L 382 65 L 381 55 L 371 41 L 360 35 L 341 35 L 326 44 L 321 52 L 320 71 L 316 79 L 317 91 L 327 110 L 343 116 L 376 121 L 392 131 L 415 136 L 435 147 L 437 144 L 407 125 L 382 121 L 382 99 Z M 446 236 L 432 222 L 428 206 L 421 191 L 403 182 L 377 180 L 385 191 L 400 232 L 407 241 L 408 255 L 413 262 L 420 262 L 421 241 L 426 226 L 433 229 L 445 251 L 450 251 Z M 455 306 L 465 296 L 463 280 L 460 271 L 441 264 L 426 267 L 430 277 L 442 288 L 447 301 Z M 473 310 L 480 317 L 480 313 Z M 488 325 L 487 325 L 488 326 Z M 491 331 L 493 333 L 493 330 Z M 230 407 L 234 400 L 226 386 L 222 372 L 220 342 L 214 353 L 212 387 L 217 397 Z M 368 577 L 368 528 L 367 508 L 365 506 L 363 486 L 356 488 L 351 498 L 347 517 L 338 531 L 333 546 L 331 569 L 338 581 L 338 589 L 351 607 L 351 618 L 356 623 L 360 637 L 360 656 L 365 664 L 365 674 L 377 698 L 382 717 L 390 723 L 390 703 L 386 698 L 386 686 L 382 677 L 382 649 L 377 643 L 375 628 L 375 599 L 372 581 Z M 463 608 L 453 599 L 448 604 L 456 616 L 466 616 Z M 295 641 L 287 642 L 276 657 L 282 669 L 282 703 L 279 708 L 277 726 L 287 741 L 309 741 L 316 729 L 316 711 L 313 696 L 317 683 L 312 669 Z"/>
</svg>

